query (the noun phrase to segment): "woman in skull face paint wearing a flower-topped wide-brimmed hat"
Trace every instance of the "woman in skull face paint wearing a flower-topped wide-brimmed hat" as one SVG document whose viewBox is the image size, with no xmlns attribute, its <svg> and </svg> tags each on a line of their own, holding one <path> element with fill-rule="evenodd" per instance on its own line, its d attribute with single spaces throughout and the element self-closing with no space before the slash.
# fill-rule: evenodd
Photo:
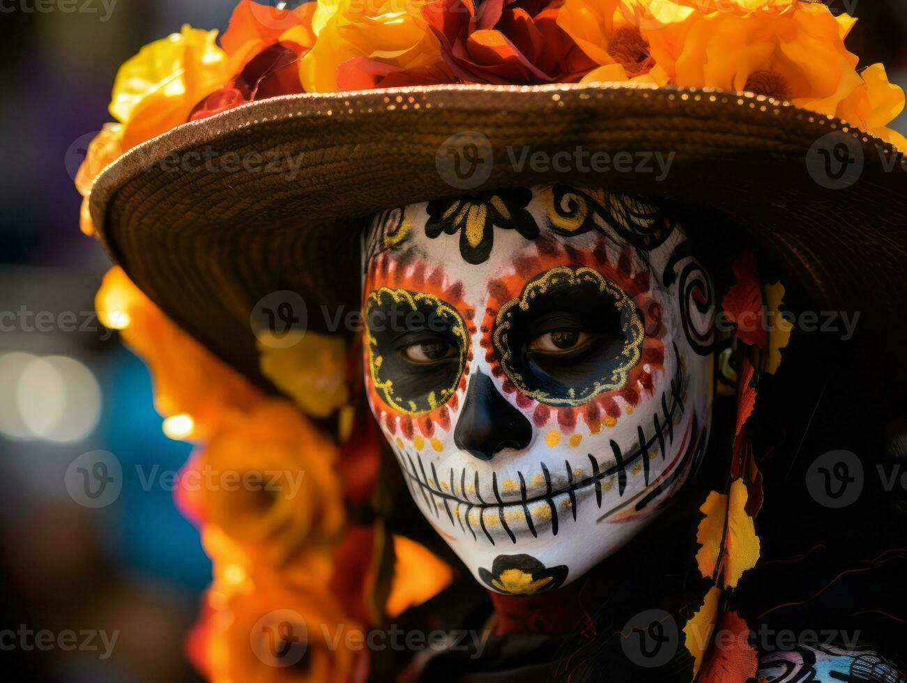
<svg viewBox="0 0 907 683">
<path fill-rule="evenodd" d="M 210 368 L 193 467 L 306 473 L 187 503 L 211 678 L 903 679 L 902 93 L 846 15 L 727 5 L 244 2 L 124 65 L 99 306 L 202 345 L 124 330 Z M 339 638 L 388 624 L 446 635 Z"/>
</svg>

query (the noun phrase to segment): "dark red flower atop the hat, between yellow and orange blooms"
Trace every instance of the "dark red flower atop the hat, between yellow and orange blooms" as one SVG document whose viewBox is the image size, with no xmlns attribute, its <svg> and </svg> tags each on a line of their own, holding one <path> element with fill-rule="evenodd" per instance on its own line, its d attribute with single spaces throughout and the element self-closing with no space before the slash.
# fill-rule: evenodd
<svg viewBox="0 0 907 683">
<path fill-rule="evenodd" d="M 561 0 L 435 0 L 423 15 L 468 83 L 578 81 L 595 63 L 561 26 Z"/>
</svg>

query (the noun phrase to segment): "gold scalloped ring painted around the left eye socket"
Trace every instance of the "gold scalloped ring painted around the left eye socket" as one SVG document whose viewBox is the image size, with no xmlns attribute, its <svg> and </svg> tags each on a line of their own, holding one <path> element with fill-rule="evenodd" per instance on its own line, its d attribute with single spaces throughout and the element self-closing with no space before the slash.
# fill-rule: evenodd
<svg viewBox="0 0 907 683">
<path fill-rule="evenodd" d="M 377 339 L 372 331 L 366 325 L 366 334 L 368 337 L 368 372 L 375 385 L 375 392 L 381 396 L 385 403 L 394 408 L 396 411 L 410 417 L 419 417 L 431 413 L 435 408 L 444 405 L 453 393 L 456 391 L 460 378 L 463 376 L 463 370 L 466 367 L 466 354 L 469 348 L 469 335 L 466 331 L 466 325 L 460 313 L 448 304 L 446 301 L 425 292 L 411 292 L 407 289 L 392 289 L 382 287 L 375 289 L 366 299 L 366 322 L 371 319 L 370 313 L 373 306 L 382 306 L 385 297 L 389 297 L 395 304 L 404 304 L 409 311 L 418 311 L 420 304 L 427 304 L 432 307 L 432 315 L 453 321 L 450 331 L 459 341 L 459 367 L 456 376 L 449 386 L 445 386 L 440 391 L 430 392 L 424 399 L 418 401 L 407 399 L 395 394 L 394 380 L 390 377 L 382 376 L 381 367 L 384 365 L 384 357 L 381 356 L 377 348 Z M 420 405 L 424 403 L 424 405 Z"/>
</svg>

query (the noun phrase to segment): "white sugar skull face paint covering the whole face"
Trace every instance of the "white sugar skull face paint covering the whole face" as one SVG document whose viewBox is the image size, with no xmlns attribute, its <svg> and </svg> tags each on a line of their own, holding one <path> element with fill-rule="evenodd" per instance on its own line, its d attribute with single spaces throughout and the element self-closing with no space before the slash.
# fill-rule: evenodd
<svg viewBox="0 0 907 683">
<path fill-rule="evenodd" d="M 712 288 L 658 207 L 517 188 L 375 216 L 366 386 L 414 501 L 491 590 L 574 581 L 696 470 Z"/>
</svg>

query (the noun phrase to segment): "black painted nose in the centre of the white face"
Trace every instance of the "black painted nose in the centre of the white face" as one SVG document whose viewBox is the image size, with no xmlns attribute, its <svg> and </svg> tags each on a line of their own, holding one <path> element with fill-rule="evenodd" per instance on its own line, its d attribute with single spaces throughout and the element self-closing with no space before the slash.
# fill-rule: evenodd
<svg viewBox="0 0 907 683">
<path fill-rule="evenodd" d="M 476 372 L 466 390 L 453 443 L 479 460 L 491 460 L 502 448 L 525 448 L 532 424 L 494 388 L 492 378 Z"/>
</svg>

